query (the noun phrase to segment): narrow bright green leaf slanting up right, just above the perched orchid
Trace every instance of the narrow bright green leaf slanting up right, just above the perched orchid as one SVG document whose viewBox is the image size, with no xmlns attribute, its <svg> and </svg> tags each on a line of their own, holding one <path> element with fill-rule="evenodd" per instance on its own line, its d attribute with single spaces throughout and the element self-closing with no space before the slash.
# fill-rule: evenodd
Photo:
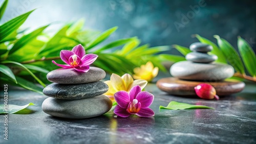
<svg viewBox="0 0 256 144">
<path fill-rule="evenodd" d="M 99 44 L 100 42 L 102 42 L 103 40 L 108 38 L 113 32 L 115 32 L 117 30 L 117 28 L 118 27 L 113 27 L 113 28 L 110 28 L 109 30 L 106 30 L 105 32 L 101 33 L 98 37 L 96 37 L 90 43 L 87 44 L 86 50 L 92 49 L 92 47 L 94 47 L 95 45 Z"/>
</svg>

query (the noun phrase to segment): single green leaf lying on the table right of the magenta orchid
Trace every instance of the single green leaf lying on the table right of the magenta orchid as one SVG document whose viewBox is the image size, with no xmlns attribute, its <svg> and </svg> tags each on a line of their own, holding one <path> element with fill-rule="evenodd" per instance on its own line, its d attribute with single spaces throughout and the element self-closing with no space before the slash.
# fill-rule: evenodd
<svg viewBox="0 0 256 144">
<path fill-rule="evenodd" d="M 207 107 L 207 106 L 190 105 L 190 104 L 186 104 L 186 103 L 179 103 L 179 102 L 176 102 L 176 101 L 170 102 L 167 107 L 164 107 L 164 106 L 160 106 L 159 107 L 159 109 L 173 109 L 173 110 L 178 110 L 178 109 L 199 109 L 199 108 L 214 109 L 214 108 Z"/>
</svg>

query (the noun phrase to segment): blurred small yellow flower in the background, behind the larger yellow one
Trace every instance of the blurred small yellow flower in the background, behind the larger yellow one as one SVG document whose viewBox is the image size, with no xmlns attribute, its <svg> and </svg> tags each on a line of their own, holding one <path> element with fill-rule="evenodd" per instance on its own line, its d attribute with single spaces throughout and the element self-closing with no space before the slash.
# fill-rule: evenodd
<svg viewBox="0 0 256 144">
<path fill-rule="evenodd" d="M 154 68 L 154 65 L 151 61 L 148 61 L 145 65 L 141 65 L 140 67 L 136 67 L 133 69 L 134 79 L 143 79 L 148 82 L 151 82 L 158 74 L 158 67 Z"/>
</svg>

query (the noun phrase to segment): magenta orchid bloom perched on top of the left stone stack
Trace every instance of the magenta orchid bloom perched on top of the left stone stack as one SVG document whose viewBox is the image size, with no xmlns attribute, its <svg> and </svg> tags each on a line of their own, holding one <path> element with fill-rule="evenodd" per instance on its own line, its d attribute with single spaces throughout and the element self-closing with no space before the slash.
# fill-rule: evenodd
<svg viewBox="0 0 256 144">
<path fill-rule="evenodd" d="M 74 68 L 75 70 L 83 73 L 87 73 L 96 59 L 97 55 L 87 54 L 81 44 L 76 45 L 72 51 L 62 50 L 60 51 L 60 59 L 67 64 L 58 64 L 54 60 L 54 64 L 63 68 Z"/>
</svg>

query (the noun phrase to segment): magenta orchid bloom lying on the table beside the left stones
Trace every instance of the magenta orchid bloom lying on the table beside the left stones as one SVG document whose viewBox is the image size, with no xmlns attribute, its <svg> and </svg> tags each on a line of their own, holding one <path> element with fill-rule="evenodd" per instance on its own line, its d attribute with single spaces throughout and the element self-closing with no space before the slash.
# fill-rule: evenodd
<svg viewBox="0 0 256 144">
<path fill-rule="evenodd" d="M 136 114 L 141 117 L 154 116 L 154 111 L 149 106 L 154 101 L 154 95 L 147 91 L 141 91 L 141 87 L 134 86 L 130 93 L 118 91 L 114 94 L 117 106 L 114 113 L 121 117 L 128 117 Z"/>
</svg>

